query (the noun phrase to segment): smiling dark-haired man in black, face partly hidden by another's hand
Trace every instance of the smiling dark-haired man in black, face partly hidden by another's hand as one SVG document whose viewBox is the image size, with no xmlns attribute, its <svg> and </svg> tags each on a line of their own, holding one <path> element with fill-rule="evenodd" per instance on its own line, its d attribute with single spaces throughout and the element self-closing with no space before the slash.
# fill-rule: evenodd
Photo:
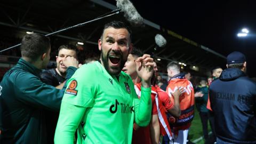
<svg viewBox="0 0 256 144">
<path fill-rule="evenodd" d="M 57 89 L 62 89 L 67 74 L 67 67 L 63 64 L 63 61 L 67 57 L 73 57 L 74 59 L 77 59 L 77 55 L 78 50 L 75 45 L 61 45 L 58 49 L 58 56 L 56 56 L 57 68 L 44 69 L 40 76 L 42 82 L 46 83 L 47 85 L 54 86 Z M 75 67 L 78 67 L 78 65 Z M 50 110 L 45 111 L 45 113 L 47 143 L 50 144 L 53 143 L 59 113 Z"/>
</svg>

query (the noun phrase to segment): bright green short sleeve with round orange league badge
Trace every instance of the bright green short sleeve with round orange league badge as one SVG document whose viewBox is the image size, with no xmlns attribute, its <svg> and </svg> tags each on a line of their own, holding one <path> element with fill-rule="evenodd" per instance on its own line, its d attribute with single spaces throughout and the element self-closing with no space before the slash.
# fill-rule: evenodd
<svg viewBox="0 0 256 144">
<path fill-rule="evenodd" d="M 67 82 L 63 102 L 81 107 L 92 107 L 97 92 L 98 78 L 95 65 L 84 65 Z"/>
</svg>

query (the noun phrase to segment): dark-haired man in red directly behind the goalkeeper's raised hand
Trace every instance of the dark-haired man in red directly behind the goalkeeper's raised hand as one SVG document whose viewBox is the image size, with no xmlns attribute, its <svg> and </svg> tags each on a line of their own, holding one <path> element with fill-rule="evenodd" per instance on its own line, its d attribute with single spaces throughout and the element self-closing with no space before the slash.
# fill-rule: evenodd
<svg viewBox="0 0 256 144">
<path fill-rule="evenodd" d="M 141 57 L 141 55 L 143 55 L 142 51 L 133 47 L 133 50 L 128 55 L 127 61 L 123 68 L 123 71 L 131 76 L 134 83 L 135 91 L 139 98 L 141 93 L 141 79 L 135 69 L 135 60 Z M 153 79 L 154 78 L 152 78 L 151 80 Z M 157 93 L 157 89 L 154 87 L 154 85 L 151 85 L 151 101 L 152 111 L 150 124 L 147 127 L 140 128 L 138 128 L 138 126 L 134 124 L 132 143 L 159 143 L 160 134 L 165 135 L 166 133 L 169 134 L 171 139 L 171 129 L 169 123 L 167 122 L 165 109 L 163 107 L 161 99 L 159 99 L 159 94 Z M 170 107 L 172 107 L 172 104 L 173 103 L 170 104 Z M 166 127 L 164 127 L 163 125 Z"/>
</svg>

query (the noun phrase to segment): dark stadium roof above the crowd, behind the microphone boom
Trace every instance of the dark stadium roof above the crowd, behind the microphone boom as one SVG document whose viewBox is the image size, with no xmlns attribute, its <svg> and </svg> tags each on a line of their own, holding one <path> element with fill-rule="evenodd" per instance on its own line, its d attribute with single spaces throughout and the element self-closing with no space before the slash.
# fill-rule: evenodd
<svg viewBox="0 0 256 144">
<path fill-rule="evenodd" d="M 49 34 L 65 27 L 77 25 L 92 20 L 111 10 L 116 6 L 102 0 L 47 0 L 47 1 L 1 1 L 0 29 L 2 36 L 21 38 L 26 31 Z M 143 17 L 143 15 L 142 15 Z M 63 43 L 84 42 L 85 49 L 98 51 L 98 39 L 102 33 L 102 25 L 110 20 L 124 20 L 121 14 L 113 15 L 83 27 L 77 27 L 51 36 L 56 45 Z M 153 53 L 161 59 L 165 68 L 167 62 L 172 60 L 186 63 L 188 66 L 198 66 L 209 69 L 225 63 L 226 57 L 200 45 L 187 37 L 157 25 L 157 23 L 144 20 L 145 26 L 132 27 L 133 44 L 146 53 Z M 156 47 L 155 35 L 161 34 L 166 40 L 165 47 Z M 6 47 L 0 47 L 0 50 Z M 155 48 L 156 51 L 154 50 Z"/>
</svg>

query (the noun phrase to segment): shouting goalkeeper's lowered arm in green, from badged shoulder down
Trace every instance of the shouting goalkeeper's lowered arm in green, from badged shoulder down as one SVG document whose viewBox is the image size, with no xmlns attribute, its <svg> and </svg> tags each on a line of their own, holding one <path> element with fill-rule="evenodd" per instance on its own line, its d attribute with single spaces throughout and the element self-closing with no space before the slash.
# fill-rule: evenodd
<svg viewBox="0 0 256 144">
<path fill-rule="evenodd" d="M 68 89 L 62 98 L 54 143 L 73 143 L 74 133 L 86 108 L 93 106 L 98 81 L 97 74 L 90 66 L 79 68 L 67 82 Z"/>
</svg>

